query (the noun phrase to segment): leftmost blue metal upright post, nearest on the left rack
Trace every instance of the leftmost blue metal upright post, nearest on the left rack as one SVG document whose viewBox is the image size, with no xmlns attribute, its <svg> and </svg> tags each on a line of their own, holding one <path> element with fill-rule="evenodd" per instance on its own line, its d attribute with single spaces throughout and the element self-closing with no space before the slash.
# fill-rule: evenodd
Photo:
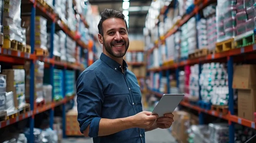
<svg viewBox="0 0 256 143">
<path fill-rule="evenodd" d="M 35 0 L 34 0 L 35 2 Z M 30 46 L 31 46 L 31 53 L 34 53 L 35 50 L 35 4 L 32 6 L 31 10 L 31 23 L 30 23 Z M 29 89 L 29 103 L 30 103 L 30 109 L 31 111 L 34 110 L 34 78 L 35 78 L 35 65 L 34 65 L 34 60 L 30 61 L 30 89 Z M 32 113 L 33 114 L 33 113 Z M 29 118 L 29 142 L 33 143 L 34 142 L 34 116 L 31 116 Z"/>
</svg>

